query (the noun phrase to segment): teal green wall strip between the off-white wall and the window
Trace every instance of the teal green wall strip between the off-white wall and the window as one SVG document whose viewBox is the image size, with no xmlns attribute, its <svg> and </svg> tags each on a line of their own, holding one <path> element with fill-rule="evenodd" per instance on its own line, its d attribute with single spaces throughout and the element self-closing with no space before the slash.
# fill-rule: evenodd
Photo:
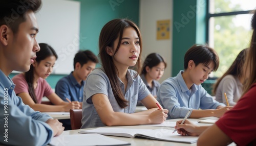
<svg viewBox="0 0 256 146">
<path fill-rule="evenodd" d="M 183 60 L 188 48 L 195 43 L 205 43 L 205 3 L 206 0 L 174 0 L 173 77 L 184 69 Z"/>
</svg>

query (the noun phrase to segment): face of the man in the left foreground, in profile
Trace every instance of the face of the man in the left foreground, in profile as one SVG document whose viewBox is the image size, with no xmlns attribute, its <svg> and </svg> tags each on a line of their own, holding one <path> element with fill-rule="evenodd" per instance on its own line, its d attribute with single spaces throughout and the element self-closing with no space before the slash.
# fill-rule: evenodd
<svg viewBox="0 0 256 146">
<path fill-rule="evenodd" d="M 28 71 L 40 47 L 35 39 L 38 26 L 32 11 L 26 12 L 26 21 L 20 23 L 18 32 L 9 35 L 8 56 L 10 68 L 17 71 Z M 14 20 L 15 23 L 15 20 Z"/>
</svg>

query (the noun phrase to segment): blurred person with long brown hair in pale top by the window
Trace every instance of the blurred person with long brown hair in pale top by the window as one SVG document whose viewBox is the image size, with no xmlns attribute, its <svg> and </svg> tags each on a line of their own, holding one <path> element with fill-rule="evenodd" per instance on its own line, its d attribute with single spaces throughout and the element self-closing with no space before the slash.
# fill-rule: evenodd
<svg viewBox="0 0 256 146">
<path fill-rule="evenodd" d="M 241 97 L 243 84 L 245 82 L 244 60 L 246 50 L 242 50 L 232 65 L 214 85 L 214 94 L 218 102 L 226 103 L 224 93 L 227 95 L 229 106 L 237 104 Z"/>
</svg>

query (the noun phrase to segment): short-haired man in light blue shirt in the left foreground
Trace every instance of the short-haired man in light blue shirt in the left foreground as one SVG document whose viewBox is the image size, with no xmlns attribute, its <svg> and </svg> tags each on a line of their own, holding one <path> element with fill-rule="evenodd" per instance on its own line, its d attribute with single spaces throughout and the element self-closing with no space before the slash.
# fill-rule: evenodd
<svg viewBox="0 0 256 146">
<path fill-rule="evenodd" d="M 9 77 L 13 70 L 28 71 L 40 50 L 34 14 L 40 6 L 40 0 L 0 1 L 1 145 L 46 145 L 64 129 L 57 119 L 24 105 Z"/>
</svg>

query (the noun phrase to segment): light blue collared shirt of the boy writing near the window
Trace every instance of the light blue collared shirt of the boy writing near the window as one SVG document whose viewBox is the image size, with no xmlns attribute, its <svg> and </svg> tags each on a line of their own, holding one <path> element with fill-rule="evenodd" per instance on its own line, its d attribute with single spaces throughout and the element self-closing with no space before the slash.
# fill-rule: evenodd
<svg viewBox="0 0 256 146">
<path fill-rule="evenodd" d="M 176 77 L 163 81 L 157 92 L 158 102 L 169 110 L 168 119 L 184 118 L 189 109 L 216 109 L 218 106 L 225 106 L 214 100 L 202 85 L 193 84 L 189 90 L 182 73 L 183 70 Z"/>
</svg>

